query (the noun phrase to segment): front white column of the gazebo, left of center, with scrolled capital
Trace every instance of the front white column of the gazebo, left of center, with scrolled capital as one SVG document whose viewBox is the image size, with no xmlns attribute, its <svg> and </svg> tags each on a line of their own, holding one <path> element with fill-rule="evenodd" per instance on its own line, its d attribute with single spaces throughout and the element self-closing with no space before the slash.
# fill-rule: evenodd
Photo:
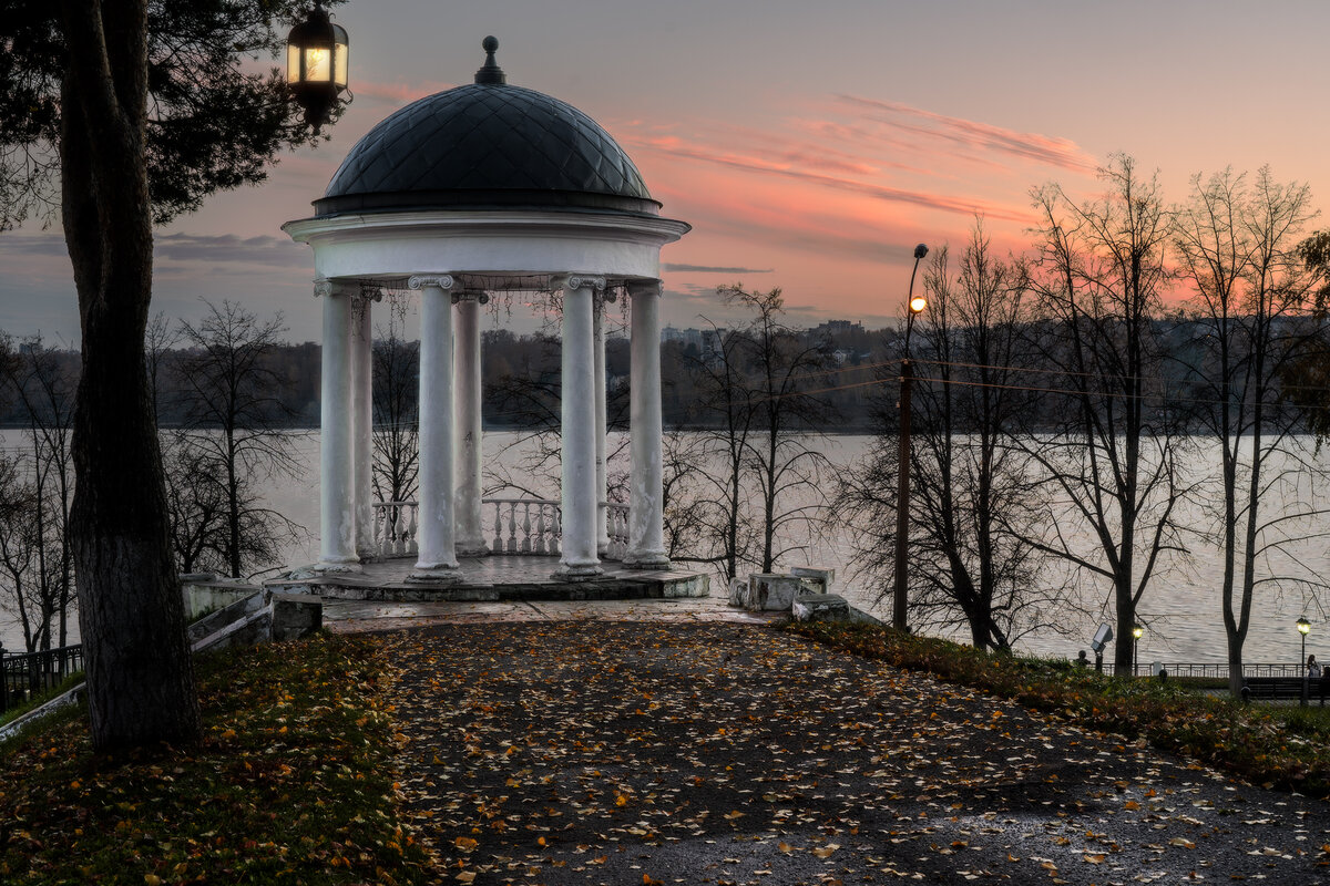
<svg viewBox="0 0 1330 886">
<path fill-rule="evenodd" d="M 452 278 L 412 276 L 420 290 L 420 525 L 418 582 L 456 580 L 452 523 Z"/>
</svg>

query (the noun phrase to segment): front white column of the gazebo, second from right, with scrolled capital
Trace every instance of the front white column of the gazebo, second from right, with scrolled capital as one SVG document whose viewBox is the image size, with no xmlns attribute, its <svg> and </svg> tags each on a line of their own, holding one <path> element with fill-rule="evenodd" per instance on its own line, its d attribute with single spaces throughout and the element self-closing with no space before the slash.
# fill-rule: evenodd
<svg viewBox="0 0 1330 886">
<path fill-rule="evenodd" d="M 563 323 L 563 559 L 555 574 L 583 579 L 601 574 L 596 555 L 596 379 L 595 290 L 604 278 L 571 275 L 553 282 L 564 291 Z"/>
</svg>

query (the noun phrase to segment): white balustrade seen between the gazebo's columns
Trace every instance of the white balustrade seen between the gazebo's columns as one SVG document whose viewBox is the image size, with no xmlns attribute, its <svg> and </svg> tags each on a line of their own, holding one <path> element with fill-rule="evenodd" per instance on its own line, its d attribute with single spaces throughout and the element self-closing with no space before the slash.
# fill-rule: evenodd
<svg viewBox="0 0 1330 886">
<path fill-rule="evenodd" d="M 484 498 L 480 526 L 491 554 L 559 557 L 563 541 L 563 507 L 545 498 Z M 601 502 L 609 543 L 608 559 L 628 553 L 628 505 Z M 419 502 L 375 502 L 374 550 L 383 559 L 415 557 L 420 529 Z"/>
</svg>

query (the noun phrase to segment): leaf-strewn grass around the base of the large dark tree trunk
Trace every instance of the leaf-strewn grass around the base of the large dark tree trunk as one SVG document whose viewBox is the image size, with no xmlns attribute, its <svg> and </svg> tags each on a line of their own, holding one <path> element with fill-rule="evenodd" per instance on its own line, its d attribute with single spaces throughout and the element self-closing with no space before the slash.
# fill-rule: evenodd
<svg viewBox="0 0 1330 886">
<path fill-rule="evenodd" d="M 94 754 L 86 715 L 0 745 L 4 883 L 419 883 L 372 643 L 317 636 L 198 660 L 205 739 Z"/>
</svg>

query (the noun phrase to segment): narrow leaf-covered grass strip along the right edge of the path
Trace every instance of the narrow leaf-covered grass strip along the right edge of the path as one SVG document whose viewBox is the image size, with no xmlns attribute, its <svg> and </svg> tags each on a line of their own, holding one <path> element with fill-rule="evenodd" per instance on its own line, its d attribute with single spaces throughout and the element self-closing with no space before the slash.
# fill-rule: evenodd
<svg viewBox="0 0 1330 886">
<path fill-rule="evenodd" d="M 1116 680 L 1063 659 L 992 655 L 878 626 L 793 623 L 786 630 L 987 689 L 1083 727 L 1144 739 L 1256 784 L 1330 794 L 1330 708 L 1242 705 L 1198 696 L 1173 680 Z"/>
</svg>

